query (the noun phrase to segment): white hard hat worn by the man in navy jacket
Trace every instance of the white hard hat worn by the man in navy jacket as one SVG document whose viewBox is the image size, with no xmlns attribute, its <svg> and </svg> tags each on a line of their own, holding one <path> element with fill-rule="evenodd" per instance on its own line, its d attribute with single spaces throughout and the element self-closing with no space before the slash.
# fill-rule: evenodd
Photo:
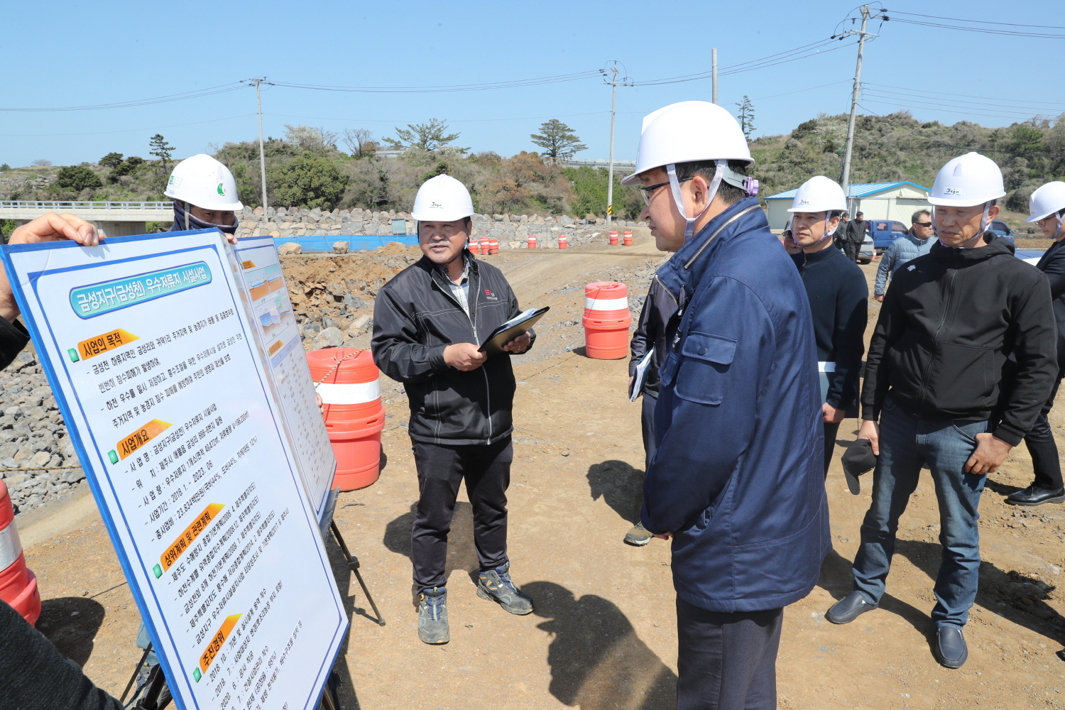
<svg viewBox="0 0 1065 710">
<path fill-rule="evenodd" d="M 636 170 L 621 184 L 639 185 L 639 175 L 656 167 L 693 161 L 746 161 L 754 165 L 739 123 L 709 101 L 671 103 L 643 118 Z"/>
</svg>

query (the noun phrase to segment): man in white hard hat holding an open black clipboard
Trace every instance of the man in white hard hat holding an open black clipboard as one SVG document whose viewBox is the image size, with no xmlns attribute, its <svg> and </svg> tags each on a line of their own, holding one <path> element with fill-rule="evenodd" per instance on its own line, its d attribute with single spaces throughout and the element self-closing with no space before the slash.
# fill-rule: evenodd
<svg viewBox="0 0 1065 710">
<path fill-rule="evenodd" d="M 410 401 L 420 490 L 411 561 L 419 638 L 429 644 L 450 638 L 447 533 L 463 480 L 480 560 L 477 595 L 512 614 L 532 611 L 532 599 L 510 579 L 507 485 L 515 390 L 510 356 L 526 352 L 535 335 L 515 337 L 503 354 L 479 351 L 521 309 L 503 273 L 466 250 L 473 213 L 461 182 L 446 175 L 427 180 L 413 210 L 424 257 L 386 283 L 374 304 L 374 362 L 404 383 Z"/>
</svg>

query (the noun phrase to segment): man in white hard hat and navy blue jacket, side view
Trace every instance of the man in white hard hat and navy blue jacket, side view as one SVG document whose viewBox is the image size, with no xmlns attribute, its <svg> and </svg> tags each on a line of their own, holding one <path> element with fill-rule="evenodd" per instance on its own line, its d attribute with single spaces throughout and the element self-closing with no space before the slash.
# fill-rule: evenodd
<svg viewBox="0 0 1065 710">
<path fill-rule="evenodd" d="M 831 548 L 817 350 L 736 119 L 705 101 L 643 120 L 641 217 L 674 252 L 641 521 L 673 539 L 677 707 L 776 708 L 784 607 Z"/>
</svg>

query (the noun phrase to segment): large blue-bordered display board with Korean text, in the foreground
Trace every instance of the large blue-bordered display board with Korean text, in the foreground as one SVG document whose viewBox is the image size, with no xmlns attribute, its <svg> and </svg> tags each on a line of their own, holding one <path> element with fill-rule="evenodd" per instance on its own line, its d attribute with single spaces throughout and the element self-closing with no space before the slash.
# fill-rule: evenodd
<svg viewBox="0 0 1065 710">
<path fill-rule="evenodd" d="M 228 249 L 3 259 L 177 706 L 310 709 L 347 617 Z"/>
</svg>

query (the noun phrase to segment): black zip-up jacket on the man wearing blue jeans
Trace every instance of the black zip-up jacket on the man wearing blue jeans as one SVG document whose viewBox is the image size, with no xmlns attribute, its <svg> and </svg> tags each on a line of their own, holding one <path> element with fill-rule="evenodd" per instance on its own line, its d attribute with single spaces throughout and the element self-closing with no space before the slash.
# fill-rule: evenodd
<svg viewBox="0 0 1065 710">
<path fill-rule="evenodd" d="M 891 278 L 869 344 L 862 415 L 890 393 L 928 419 L 993 420 L 1016 446 L 1058 375 L 1046 277 L 1002 237 L 974 249 L 936 244 Z"/>
</svg>

